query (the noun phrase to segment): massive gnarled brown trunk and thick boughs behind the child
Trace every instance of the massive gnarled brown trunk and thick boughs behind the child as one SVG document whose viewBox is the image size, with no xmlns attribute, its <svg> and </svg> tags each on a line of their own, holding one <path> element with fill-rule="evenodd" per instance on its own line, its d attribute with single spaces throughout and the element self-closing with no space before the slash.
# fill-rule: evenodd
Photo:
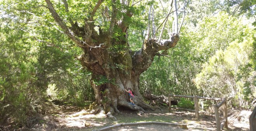
<svg viewBox="0 0 256 131">
<path fill-rule="evenodd" d="M 131 17 L 132 12 L 127 11 L 123 22 L 116 22 L 116 5 L 112 4 L 111 21 L 108 31 L 102 31 L 99 27 L 99 34 L 95 30 L 96 25 L 93 22 L 93 15 L 103 0 L 99 0 L 88 20 L 85 20 L 84 26 L 79 27 L 76 23 L 69 20 L 72 27 L 67 27 L 63 20 L 56 13 L 50 0 L 45 0 L 48 9 L 52 13 L 52 17 L 64 30 L 64 33 L 71 38 L 78 46 L 83 49 L 83 54 L 78 57 L 81 64 L 88 70 L 93 72 L 91 85 L 94 89 L 96 101 L 103 106 L 106 113 L 118 113 L 118 107 L 123 106 L 136 111 L 145 111 L 145 109 L 153 109 L 152 106 L 146 104 L 139 92 L 140 74 L 146 71 L 152 64 L 155 55 L 160 50 L 167 50 L 174 47 L 178 40 L 178 34 L 173 33 L 169 40 L 149 39 L 146 37 L 142 48 L 138 51 L 131 51 L 127 42 L 127 23 L 125 18 Z M 63 0 L 65 3 L 65 0 Z M 115 3 L 112 0 L 112 3 Z M 65 4 L 68 11 L 67 3 Z M 112 34 L 115 30 L 119 30 L 119 34 L 123 34 L 118 38 L 113 38 Z M 82 38 L 78 39 L 78 37 Z M 123 39 L 124 38 L 124 39 Z M 134 102 L 131 105 L 128 94 L 124 89 L 131 88 L 134 92 Z"/>
</svg>

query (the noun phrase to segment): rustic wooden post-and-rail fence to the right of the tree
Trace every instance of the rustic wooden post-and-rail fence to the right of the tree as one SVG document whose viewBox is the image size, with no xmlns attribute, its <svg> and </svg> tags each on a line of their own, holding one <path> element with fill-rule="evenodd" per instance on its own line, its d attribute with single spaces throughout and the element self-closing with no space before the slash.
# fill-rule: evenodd
<svg viewBox="0 0 256 131">
<path fill-rule="evenodd" d="M 172 97 L 185 97 L 185 98 L 192 98 L 194 99 L 195 103 L 195 109 L 185 109 L 185 108 L 180 108 L 180 107 L 171 107 L 171 98 Z M 215 117 L 216 119 L 216 126 L 217 126 L 217 131 L 221 131 L 223 127 L 228 129 L 228 117 L 227 117 L 227 99 L 225 98 L 211 98 L 211 97 L 200 97 L 200 96 L 180 96 L 180 95 L 170 95 L 169 94 L 169 112 L 171 112 L 171 109 L 180 109 L 184 111 L 191 111 L 195 112 L 195 118 L 199 119 L 199 113 L 207 115 L 207 116 L 212 116 Z M 221 101 L 217 105 L 214 105 L 214 112 L 215 114 L 209 114 L 204 111 L 199 111 L 199 106 L 198 106 L 198 100 L 199 99 L 206 99 L 206 100 L 213 100 L 213 101 Z M 223 105 L 223 117 L 219 115 L 219 108 Z M 220 118 L 223 120 L 220 123 Z"/>
</svg>

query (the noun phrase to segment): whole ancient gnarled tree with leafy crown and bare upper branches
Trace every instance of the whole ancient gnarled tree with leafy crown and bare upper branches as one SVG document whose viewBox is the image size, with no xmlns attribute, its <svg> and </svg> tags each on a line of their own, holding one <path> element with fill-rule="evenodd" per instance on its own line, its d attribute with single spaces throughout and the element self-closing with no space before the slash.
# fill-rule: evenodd
<svg viewBox="0 0 256 131">
<path fill-rule="evenodd" d="M 98 0 L 93 1 L 86 9 L 82 18 L 66 17 L 60 15 L 60 10 L 50 0 L 45 0 L 55 22 L 82 50 L 78 57 L 81 64 L 92 71 L 92 87 L 96 101 L 106 114 L 118 113 L 118 106 L 127 107 L 137 111 L 153 109 L 146 104 L 139 92 L 139 78 L 154 60 L 155 55 L 163 55 L 159 51 L 175 47 L 179 40 L 179 32 L 185 16 L 185 2 L 183 3 L 183 18 L 178 26 L 178 7 L 176 0 L 170 2 L 166 18 L 156 28 L 154 22 L 154 6 L 156 2 L 147 2 L 148 28 L 140 50 L 132 51 L 128 42 L 128 28 L 135 12 L 135 5 L 142 0 Z M 69 2 L 62 0 L 64 13 L 71 14 Z M 79 4 L 79 3 L 78 3 Z M 62 12 L 63 14 L 63 12 Z M 161 39 L 168 17 L 173 17 L 173 31 L 169 39 Z M 150 28 L 151 27 L 151 28 Z M 159 29 L 161 28 L 161 29 Z M 158 32 L 158 33 L 157 33 Z M 158 35 L 157 35 L 158 34 Z M 121 53 L 120 53 L 121 52 Z M 164 56 L 164 55 L 163 55 Z M 124 89 L 131 88 L 135 94 L 135 106 L 129 104 L 128 95 Z"/>
</svg>

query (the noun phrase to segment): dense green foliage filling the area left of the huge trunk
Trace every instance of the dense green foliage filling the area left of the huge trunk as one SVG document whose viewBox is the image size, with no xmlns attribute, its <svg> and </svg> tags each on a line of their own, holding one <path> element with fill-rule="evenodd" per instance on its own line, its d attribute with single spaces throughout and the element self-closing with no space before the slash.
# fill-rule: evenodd
<svg viewBox="0 0 256 131">
<path fill-rule="evenodd" d="M 29 117 L 48 113 L 52 100 L 74 106 L 94 100 L 91 76 L 78 71 L 81 65 L 74 59 L 81 50 L 52 23 L 47 9 L 38 7 L 42 4 L 0 1 L 0 124 L 4 126 L 32 126 Z"/>
</svg>

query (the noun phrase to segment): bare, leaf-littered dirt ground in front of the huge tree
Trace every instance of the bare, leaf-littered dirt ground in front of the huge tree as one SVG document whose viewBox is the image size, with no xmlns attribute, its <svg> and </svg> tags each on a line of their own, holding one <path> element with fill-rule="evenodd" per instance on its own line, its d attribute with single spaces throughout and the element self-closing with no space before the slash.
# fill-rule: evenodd
<svg viewBox="0 0 256 131">
<path fill-rule="evenodd" d="M 57 114 L 52 116 L 47 116 L 48 120 L 44 120 L 45 123 L 42 125 L 35 126 L 30 130 L 41 130 L 41 131 L 85 131 L 85 130 L 99 130 L 106 126 L 111 126 L 119 123 L 136 123 L 136 122 L 147 122 L 147 121 L 157 121 L 157 122 L 168 122 L 168 123 L 182 123 L 187 124 L 189 128 L 187 131 L 215 131 L 216 123 L 215 118 L 210 116 L 200 115 L 199 120 L 194 118 L 194 113 L 187 111 L 173 110 L 172 113 L 168 113 L 167 107 L 161 107 L 156 109 L 156 111 L 148 111 L 144 114 L 137 114 L 135 111 L 130 111 L 126 109 L 120 109 L 120 114 L 114 115 L 117 120 L 106 118 L 105 115 L 94 115 L 88 114 L 78 117 L 71 117 L 71 114 L 77 113 L 81 109 L 74 109 L 66 107 L 62 108 Z M 232 111 L 230 111 L 232 113 Z M 240 112 L 241 114 L 242 112 Z M 243 112 L 245 113 L 245 112 Z M 250 112 L 242 114 L 248 116 Z M 229 113 L 229 116 L 232 114 Z M 233 115 L 234 116 L 234 115 Z M 237 115 L 239 113 L 237 112 Z M 51 118 L 51 119 L 50 119 Z M 239 118 L 239 117 L 238 117 Z M 229 118 L 228 118 L 229 119 Z M 241 119 L 240 117 L 240 120 Z M 248 131 L 249 130 L 249 121 L 244 120 L 240 121 L 238 119 L 228 121 L 228 131 Z M 183 131 L 181 128 L 171 129 L 168 126 L 158 126 L 158 125 L 148 125 L 148 126 L 135 126 L 135 127 L 121 127 L 116 130 L 126 131 L 126 130 L 173 130 L 173 131 Z M 227 129 L 225 129 L 227 130 Z"/>
</svg>

